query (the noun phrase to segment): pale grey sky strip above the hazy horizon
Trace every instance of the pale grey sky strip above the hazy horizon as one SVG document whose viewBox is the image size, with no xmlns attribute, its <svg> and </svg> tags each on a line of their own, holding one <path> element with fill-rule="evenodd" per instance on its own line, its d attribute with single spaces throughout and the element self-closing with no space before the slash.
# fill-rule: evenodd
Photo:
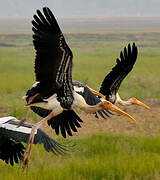
<svg viewBox="0 0 160 180">
<path fill-rule="evenodd" d="M 59 17 L 160 16 L 160 0 L 1 0 L 0 17 L 30 18 L 42 6 Z"/>
</svg>

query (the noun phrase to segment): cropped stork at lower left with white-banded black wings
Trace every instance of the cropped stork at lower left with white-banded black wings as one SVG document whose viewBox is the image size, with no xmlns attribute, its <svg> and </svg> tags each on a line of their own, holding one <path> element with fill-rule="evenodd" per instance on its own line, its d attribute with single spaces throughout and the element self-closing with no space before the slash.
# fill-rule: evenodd
<svg viewBox="0 0 160 180">
<path fill-rule="evenodd" d="M 22 160 L 25 147 L 21 142 L 27 143 L 34 124 L 24 123 L 17 128 L 19 120 L 8 116 L 0 118 L 0 159 L 7 164 L 19 163 Z M 50 138 L 41 129 L 37 129 L 33 144 L 43 144 L 47 152 L 64 154 L 66 146 Z"/>
</svg>

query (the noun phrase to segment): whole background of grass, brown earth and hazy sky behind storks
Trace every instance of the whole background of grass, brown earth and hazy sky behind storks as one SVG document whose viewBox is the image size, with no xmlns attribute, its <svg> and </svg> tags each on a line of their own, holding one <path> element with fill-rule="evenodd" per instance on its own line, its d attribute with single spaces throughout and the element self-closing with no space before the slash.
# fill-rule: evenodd
<svg viewBox="0 0 160 180">
<path fill-rule="evenodd" d="M 120 51 L 135 42 L 137 62 L 118 92 L 124 100 L 143 101 L 151 111 L 121 107 L 136 124 L 122 116 L 97 119 L 78 111 L 84 123 L 67 138 L 77 145 L 73 150 L 54 156 L 42 145 L 33 146 L 26 172 L 0 159 L 0 180 L 160 180 L 160 0 L 0 0 L 1 117 L 24 117 L 21 97 L 35 82 L 31 20 L 44 6 L 53 11 L 73 52 L 73 78 L 96 90 Z M 28 122 L 40 120 L 29 113 Z"/>
</svg>

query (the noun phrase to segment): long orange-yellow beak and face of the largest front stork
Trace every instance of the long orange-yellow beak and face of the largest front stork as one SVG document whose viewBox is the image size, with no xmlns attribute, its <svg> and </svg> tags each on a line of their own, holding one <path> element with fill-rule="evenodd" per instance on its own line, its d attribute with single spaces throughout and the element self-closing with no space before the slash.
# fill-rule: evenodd
<svg viewBox="0 0 160 180">
<path fill-rule="evenodd" d="M 124 112 L 123 110 L 121 110 L 116 105 L 112 104 L 109 101 L 105 101 L 104 103 L 105 103 L 105 105 L 107 107 L 106 109 L 111 110 L 113 112 L 116 112 L 116 113 L 118 113 L 120 115 L 126 116 L 126 117 L 130 118 L 132 121 L 134 121 L 136 123 L 136 120 L 131 115 L 129 115 L 128 113 Z"/>
</svg>

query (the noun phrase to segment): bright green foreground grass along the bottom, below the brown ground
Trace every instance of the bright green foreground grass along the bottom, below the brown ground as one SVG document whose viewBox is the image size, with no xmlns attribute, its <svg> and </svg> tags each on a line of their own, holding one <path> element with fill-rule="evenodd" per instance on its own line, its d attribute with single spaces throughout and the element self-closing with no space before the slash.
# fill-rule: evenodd
<svg viewBox="0 0 160 180">
<path fill-rule="evenodd" d="M 28 173 L 1 163 L 0 179 L 160 179 L 160 136 L 94 134 L 74 142 L 78 150 L 59 157 L 35 146 Z"/>
</svg>

